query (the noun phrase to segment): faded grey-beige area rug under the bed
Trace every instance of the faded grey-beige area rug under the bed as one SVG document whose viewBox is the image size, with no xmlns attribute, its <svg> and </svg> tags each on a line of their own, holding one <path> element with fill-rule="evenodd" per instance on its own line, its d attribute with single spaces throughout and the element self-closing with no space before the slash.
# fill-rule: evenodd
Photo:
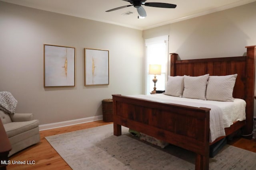
<svg viewBox="0 0 256 170">
<path fill-rule="evenodd" d="M 142 142 L 113 124 L 46 137 L 73 170 L 193 170 L 195 154 L 174 145 Z M 255 170 L 256 153 L 226 145 L 210 158 L 210 170 Z"/>
</svg>

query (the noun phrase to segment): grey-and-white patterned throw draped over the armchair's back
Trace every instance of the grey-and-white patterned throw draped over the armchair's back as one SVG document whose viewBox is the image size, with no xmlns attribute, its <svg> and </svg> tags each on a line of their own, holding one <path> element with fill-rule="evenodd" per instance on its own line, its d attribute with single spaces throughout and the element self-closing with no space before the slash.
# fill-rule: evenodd
<svg viewBox="0 0 256 170">
<path fill-rule="evenodd" d="M 7 113 L 15 113 L 18 101 L 10 92 L 0 92 L 0 109 Z"/>
</svg>

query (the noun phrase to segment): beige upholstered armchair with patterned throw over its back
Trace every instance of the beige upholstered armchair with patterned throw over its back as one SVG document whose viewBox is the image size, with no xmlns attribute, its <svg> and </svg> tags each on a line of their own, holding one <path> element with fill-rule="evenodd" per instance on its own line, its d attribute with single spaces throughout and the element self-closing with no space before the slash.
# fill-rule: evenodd
<svg viewBox="0 0 256 170">
<path fill-rule="evenodd" d="M 31 113 L 15 113 L 17 103 L 10 92 L 0 92 L 0 119 L 12 146 L 8 156 L 40 141 L 39 121 Z"/>
</svg>

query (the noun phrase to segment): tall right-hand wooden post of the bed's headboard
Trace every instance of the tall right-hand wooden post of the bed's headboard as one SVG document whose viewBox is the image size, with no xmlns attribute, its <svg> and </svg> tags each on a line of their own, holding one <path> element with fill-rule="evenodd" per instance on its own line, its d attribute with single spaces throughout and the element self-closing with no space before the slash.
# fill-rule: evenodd
<svg viewBox="0 0 256 170">
<path fill-rule="evenodd" d="M 246 89 L 246 126 L 243 131 L 243 135 L 248 139 L 252 139 L 253 130 L 253 115 L 254 115 L 254 81 L 255 81 L 255 56 L 256 56 L 256 45 L 247 46 L 246 53 L 246 84 L 248 85 Z M 251 135 L 250 135 L 251 134 Z"/>
</svg>

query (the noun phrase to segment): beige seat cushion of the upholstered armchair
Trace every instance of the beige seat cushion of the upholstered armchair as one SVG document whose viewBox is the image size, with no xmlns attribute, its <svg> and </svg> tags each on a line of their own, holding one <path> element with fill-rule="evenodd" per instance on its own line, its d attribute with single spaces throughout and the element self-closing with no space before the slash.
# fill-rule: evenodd
<svg viewBox="0 0 256 170">
<path fill-rule="evenodd" d="M 12 137 L 38 126 L 39 126 L 38 120 L 20 121 L 20 122 L 6 123 L 4 124 L 4 129 L 6 131 L 7 136 Z"/>
</svg>

